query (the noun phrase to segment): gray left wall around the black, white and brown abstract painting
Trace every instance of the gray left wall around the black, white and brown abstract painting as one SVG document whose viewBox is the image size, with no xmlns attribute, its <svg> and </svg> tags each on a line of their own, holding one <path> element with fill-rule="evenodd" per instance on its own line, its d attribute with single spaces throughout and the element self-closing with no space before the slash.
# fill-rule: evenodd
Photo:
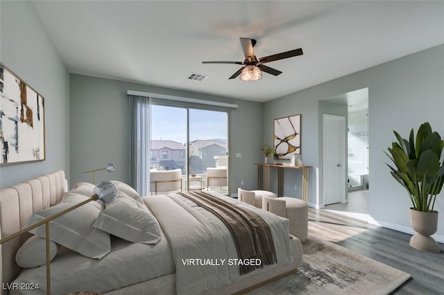
<svg viewBox="0 0 444 295">
<path fill-rule="evenodd" d="M 44 97 L 46 161 L 0 167 L 0 187 L 69 172 L 69 75 L 33 6 L 0 1 L 0 60 Z M 69 175 L 68 175 L 69 177 Z"/>
</svg>

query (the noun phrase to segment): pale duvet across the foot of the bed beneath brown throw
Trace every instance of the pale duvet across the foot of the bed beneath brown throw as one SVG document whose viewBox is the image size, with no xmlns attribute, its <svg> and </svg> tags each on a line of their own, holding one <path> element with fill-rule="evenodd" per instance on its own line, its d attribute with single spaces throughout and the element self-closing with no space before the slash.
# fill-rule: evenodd
<svg viewBox="0 0 444 295">
<path fill-rule="evenodd" d="M 293 262 L 289 220 L 230 197 L 213 195 L 232 204 L 246 206 L 261 215 L 271 227 L 278 263 Z M 198 294 L 237 280 L 240 277 L 237 261 L 239 256 L 232 235 L 225 224 L 214 214 L 185 197 L 178 194 L 166 196 L 148 197 L 145 202 L 169 238 L 173 259 L 176 262 L 176 292 Z M 194 263 L 191 263 L 190 259 L 193 259 Z M 264 269 L 275 266 L 268 265 Z M 244 276 L 257 274 L 257 271 L 260 270 Z"/>
</svg>

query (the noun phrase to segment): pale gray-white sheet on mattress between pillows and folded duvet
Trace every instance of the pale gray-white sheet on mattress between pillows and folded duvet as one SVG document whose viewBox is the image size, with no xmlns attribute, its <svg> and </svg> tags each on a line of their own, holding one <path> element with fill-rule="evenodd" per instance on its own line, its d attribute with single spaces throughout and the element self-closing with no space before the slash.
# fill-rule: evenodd
<svg viewBox="0 0 444 295">
<path fill-rule="evenodd" d="M 164 233 L 162 240 L 155 245 L 112 237 L 112 251 L 101 260 L 87 258 L 74 251 L 58 254 L 51 261 L 51 294 L 77 291 L 105 293 L 175 271 Z M 18 284 L 18 289 L 12 289 L 11 295 L 46 294 L 46 266 L 24 269 L 13 283 Z M 26 283 L 38 283 L 39 289 L 20 289 Z"/>
</svg>

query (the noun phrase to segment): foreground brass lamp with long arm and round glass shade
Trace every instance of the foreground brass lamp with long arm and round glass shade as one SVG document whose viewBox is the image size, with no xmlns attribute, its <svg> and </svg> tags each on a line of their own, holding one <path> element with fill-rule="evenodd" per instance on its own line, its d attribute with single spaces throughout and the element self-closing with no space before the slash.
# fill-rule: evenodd
<svg viewBox="0 0 444 295">
<path fill-rule="evenodd" d="M 52 216 L 46 217 L 44 220 L 41 220 L 40 222 L 36 222 L 35 224 L 32 224 L 31 226 L 26 227 L 25 229 L 22 229 L 21 231 L 17 231 L 17 233 L 12 233 L 12 235 L 8 235 L 6 238 L 3 238 L 0 240 L 0 244 L 3 244 L 4 242 L 8 242 L 9 240 L 12 240 L 13 238 L 17 238 L 19 235 L 22 235 L 22 233 L 26 233 L 28 231 L 31 231 L 31 229 L 35 229 L 38 226 L 41 226 L 43 224 L 46 225 L 46 231 L 45 231 L 45 239 L 46 239 L 46 294 L 51 294 L 51 264 L 50 264 L 50 247 L 49 247 L 49 222 L 53 219 L 56 219 L 57 217 L 60 217 L 62 215 L 65 215 L 66 213 L 73 211 L 74 209 L 83 206 L 91 201 L 96 201 L 100 204 L 110 204 L 114 202 L 114 199 L 117 197 L 117 186 L 113 184 L 111 181 L 102 181 L 100 184 L 98 184 L 94 188 L 94 195 L 92 195 L 89 199 L 86 199 L 83 202 L 80 202 L 70 208 L 65 209 L 64 211 L 60 211 L 59 213 L 56 213 Z"/>
</svg>

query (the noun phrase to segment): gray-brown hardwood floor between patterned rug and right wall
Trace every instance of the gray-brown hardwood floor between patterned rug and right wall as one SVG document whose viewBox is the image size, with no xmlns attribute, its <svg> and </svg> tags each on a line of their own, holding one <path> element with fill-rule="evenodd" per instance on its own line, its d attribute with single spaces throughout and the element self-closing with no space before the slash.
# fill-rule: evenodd
<svg viewBox="0 0 444 295">
<path fill-rule="evenodd" d="M 309 208 L 309 234 L 411 274 L 393 294 L 444 294 L 444 244 L 441 253 L 419 251 L 409 246 L 407 233 L 314 208 Z"/>
</svg>

